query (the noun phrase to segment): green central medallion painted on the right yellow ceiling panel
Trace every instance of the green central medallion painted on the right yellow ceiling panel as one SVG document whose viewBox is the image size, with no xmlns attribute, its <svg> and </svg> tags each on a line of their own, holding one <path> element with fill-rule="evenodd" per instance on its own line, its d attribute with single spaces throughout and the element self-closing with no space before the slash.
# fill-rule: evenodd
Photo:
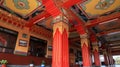
<svg viewBox="0 0 120 67">
<path fill-rule="evenodd" d="M 98 4 L 95 6 L 96 9 L 104 10 L 109 8 L 115 0 L 100 0 Z"/>
</svg>

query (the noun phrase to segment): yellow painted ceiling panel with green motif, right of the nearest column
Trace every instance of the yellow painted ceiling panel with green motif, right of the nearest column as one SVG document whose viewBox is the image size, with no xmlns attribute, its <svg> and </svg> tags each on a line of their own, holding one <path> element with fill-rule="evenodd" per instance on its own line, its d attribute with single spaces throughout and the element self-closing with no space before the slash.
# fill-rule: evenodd
<svg viewBox="0 0 120 67">
<path fill-rule="evenodd" d="M 86 0 L 78 7 L 88 18 L 93 18 L 120 8 L 120 0 Z"/>
</svg>

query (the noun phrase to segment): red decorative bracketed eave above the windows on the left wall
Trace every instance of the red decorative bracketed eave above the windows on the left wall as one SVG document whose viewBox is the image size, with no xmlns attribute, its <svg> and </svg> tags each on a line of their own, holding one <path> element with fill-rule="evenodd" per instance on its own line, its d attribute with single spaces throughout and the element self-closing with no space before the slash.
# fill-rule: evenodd
<svg viewBox="0 0 120 67">
<path fill-rule="evenodd" d="M 18 27 L 20 29 L 24 29 L 26 23 L 28 23 L 27 21 L 25 21 L 21 18 L 18 18 L 16 16 L 12 15 L 12 14 L 9 14 L 6 11 L 3 11 L 3 10 L 0 10 L 0 20 L 4 21 L 7 24 L 14 25 L 15 27 Z M 48 31 L 48 30 L 46 30 L 42 27 L 36 26 L 36 25 L 33 25 L 30 28 L 30 32 L 36 33 L 38 35 L 42 35 L 46 38 L 51 38 L 52 37 L 52 32 L 50 32 L 50 31 Z"/>
</svg>

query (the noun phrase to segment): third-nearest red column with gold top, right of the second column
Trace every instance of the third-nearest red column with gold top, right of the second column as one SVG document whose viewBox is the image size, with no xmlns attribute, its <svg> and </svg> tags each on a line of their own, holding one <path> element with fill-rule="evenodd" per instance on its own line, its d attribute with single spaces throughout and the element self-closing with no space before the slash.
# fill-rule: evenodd
<svg viewBox="0 0 120 67">
<path fill-rule="evenodd" d="M 99 50 L 98 50 L 98 43 L 97 42 L 93 42 L 93 55 L 94 55 L 94 62 L 95 62 L 95 66 L 100 66 L 100 57 L 99 57 Z"/>
</svg>

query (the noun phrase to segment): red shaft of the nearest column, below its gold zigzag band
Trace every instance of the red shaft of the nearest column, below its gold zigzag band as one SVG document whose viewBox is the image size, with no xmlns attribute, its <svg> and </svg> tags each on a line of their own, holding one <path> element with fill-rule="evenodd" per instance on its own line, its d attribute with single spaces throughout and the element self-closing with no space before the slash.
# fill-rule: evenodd
<svg viewBox="0 0 120 67">
<path fill-rule="evenodd" d="M 68 50 L 69 48 L 67 31 L 64 30 L 61 34 L 59 29 L 57 29 L 53 36 L 52 67 L 69 67 Z"/>
</svg>

